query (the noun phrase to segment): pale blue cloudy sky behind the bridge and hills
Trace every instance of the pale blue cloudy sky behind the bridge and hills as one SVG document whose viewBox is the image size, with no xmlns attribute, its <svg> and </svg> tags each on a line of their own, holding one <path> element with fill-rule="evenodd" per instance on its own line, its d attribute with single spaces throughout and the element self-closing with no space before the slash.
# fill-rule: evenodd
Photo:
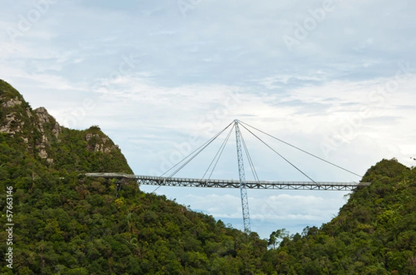
<svg viewBox="0 0 416 275">
<path fill-rule="evenodd" d="M 63 126 L 100 126 L 136 174 L 161 175 L 236 119 L 359 175 L 415 164 L 413 0 L 2 3 L 0 78 Z M 241 131 L 261 180 L 308 180 Z M 225 136 L 176 176 L 201 178 Z M 267 142 L 313 180 L 361 180 Z M 231 135 L 211 178 L 237 168 Z M 239 192 L 155 191 L 243 229 Z M 252 231 L 319 227 L 348 193 L 248 190 Z"/>
</svg>

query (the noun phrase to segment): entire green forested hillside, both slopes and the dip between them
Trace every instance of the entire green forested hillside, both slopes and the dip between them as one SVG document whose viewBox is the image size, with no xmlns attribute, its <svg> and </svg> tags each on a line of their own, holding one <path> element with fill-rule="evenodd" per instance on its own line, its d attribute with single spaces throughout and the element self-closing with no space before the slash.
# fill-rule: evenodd
<svg viewBox="0 0 416 275">
<path fill-rule="evenodd" d="M 0 80 L 0 207 L 6 225 L 12 187 L 15 223 L 1 274 L 416 274 L 416 169 L 397 160 L 371 167 L 331 222 L 269 240 L 87 171 L 132 173 L 98 126 L 62 127 Z"/>
</svg>

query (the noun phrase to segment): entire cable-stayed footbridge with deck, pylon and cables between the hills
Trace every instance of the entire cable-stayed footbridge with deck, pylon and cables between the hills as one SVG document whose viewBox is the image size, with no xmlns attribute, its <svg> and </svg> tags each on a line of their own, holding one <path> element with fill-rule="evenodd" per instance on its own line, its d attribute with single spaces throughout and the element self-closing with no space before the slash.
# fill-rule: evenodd
<svg viewBox="0 0 416 275">
<path fill-rule="evenodd" d="M 245 143 L 243 135 L 241 133 L 241 128 L 245 129 L 250 133 L 254 138 L 257 138 L 263 145 L 265 145 L 268 149 L 273 151 L 279 158 L 283 159 L 287 164 L 289 164 L 293 169 L 297 170 L 301 173 L 308 181 L 267 181 L 267 180 L 260 180 L 259 176 L 257 175 L 256 168 L 254 166 L 254 162 L 250 156 L 248 146 Z M 184 167 L 189 164 L 194 158 L 196 158 L 202 151 L 204 151 L 207 146 L 209 146 L 214 140 L 216 140 L 221 134 L 223 134 L 226 130 L 228 130 L 228 134 L 226 135 L 225 140 L 222 142 L 218 151 L 214 156 L 214 159 L 209 164 L 208 169 L 203 174 L 202 178 L 175 178 L 175 175 L 181 171 Z M 236 149 L 237 149 L 237 164 L 238 164 L 238 171 L 239 171 L 239 180 L 215 180 L 211 179 L 214 170 L 217 167 L 218 161 L 223 155 L 223 151 L 227 142 L 229 141 L 232 132 L 234 131 L 236 137 Z M 286 146 L 290 146 L 293 149 L 301 151 L 306 155 L 309 155 L 321 162 L 325 162 L 337 169 L 341 169 L 347 173 L 350 173 L 354 176 L 362 178 L 362 176 L 358 175 L 358 173 L 354 173 L 348 169 L 340 167 L 338 164 L 333 162 L 329 162 L 328 160 L 324 160 L 320 158 L 318 155 L 314 155 L 313 153 L 309 153 L 299 147 L 292 145 L 284 140 L 280 140 L 273 135 L 270 135 L 260 129 L 257 129 L 245 122 L 241 122 L 240 120 L 234 120 L 228 126 L 225 127 L 222 131 L 214 135 L 213 138 L 209 139 L 205 144 L 199 146 L 196 150 L 191 152 L 187 155 L 184 159 L 180 162 L 175 164 L 171 169 L 168 169 L 165 173 L 161 176 L 140 176 L 140 175 L 129 175 L 125 173 L 87 173 L 86 175 L 89 177 L 94 178 L 107 178 L 107 179 L 115 179 L 119 183 L 119 187 L 121 187 L 122 182 L 125 180 L 136 180 L 138 184 L 143 185 L 157 185 L 159 187 L 166 186 L 166 187 L 205 187 L 205 188 L 239 188 L 241 193 L 241 208 L 243 212 L 243 223 L 244 223 L 244 231 L 246 233 L 250 233 L 250 214 L 249 214 L 249 207 L 248 207 L 248 194 L 247 189 L 292 189 L 292 190 L 333 190 L 333 191 L 351 191 L 358 187 L 367 187 L 370 185 L 370 182 L 318 182 L 313 180 L 310 176 L 308 176 L 304 171 L 302 171 L 299 167 L 297 167 L 293 162 L 288 160 L 288 158 L 281 155 L 277 149 L 270 146 L 267 142 L 265 142 L 262 138 L 260 138 L 260 134 L 266 135 L 268 138 L 272 138 L 273 140 L 277 140 Z M 244 161 L 248 161 L 250 165 L 250 169 L 252 171 L 252 176 L 254 180 L 246 180 L 245 179 L 245 168 L 244 168 Z M 165 176 L 168 175 L 168 176 Z M 157 189 L 155 189 L 156 191 Z"/>
</svg>

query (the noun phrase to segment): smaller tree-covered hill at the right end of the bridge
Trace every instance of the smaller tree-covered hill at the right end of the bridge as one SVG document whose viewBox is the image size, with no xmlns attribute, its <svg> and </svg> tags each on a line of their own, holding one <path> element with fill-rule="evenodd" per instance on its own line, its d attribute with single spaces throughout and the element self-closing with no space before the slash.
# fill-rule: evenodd
<svg viewBox="0 0 416 275">
<path fill-rule="evenodd" d="M 382 160 L 331 222 L 263 258 L 278 274 L 416 274 L 416 169 Z"/>
</svg>

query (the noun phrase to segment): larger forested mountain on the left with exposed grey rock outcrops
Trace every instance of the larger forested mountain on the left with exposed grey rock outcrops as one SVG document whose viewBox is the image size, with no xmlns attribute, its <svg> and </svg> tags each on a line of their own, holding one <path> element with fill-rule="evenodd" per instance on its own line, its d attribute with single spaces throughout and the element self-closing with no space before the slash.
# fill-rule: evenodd
<svg viewBox="0 0 416 275">
<path fill-rule="evenodd" d="M 266 241 L 140 191 L 98 126 L 67 129 L 0 81 L 0 186 L 12 187 L 13 269 L 2 274 L 252 274 Z M 6 196 L 0 207 L 6 219 Z M 6 227 L 5 229 L 7 229 Z M 0 231 L 0 257 L 10 247 Z"/>
</svg>

